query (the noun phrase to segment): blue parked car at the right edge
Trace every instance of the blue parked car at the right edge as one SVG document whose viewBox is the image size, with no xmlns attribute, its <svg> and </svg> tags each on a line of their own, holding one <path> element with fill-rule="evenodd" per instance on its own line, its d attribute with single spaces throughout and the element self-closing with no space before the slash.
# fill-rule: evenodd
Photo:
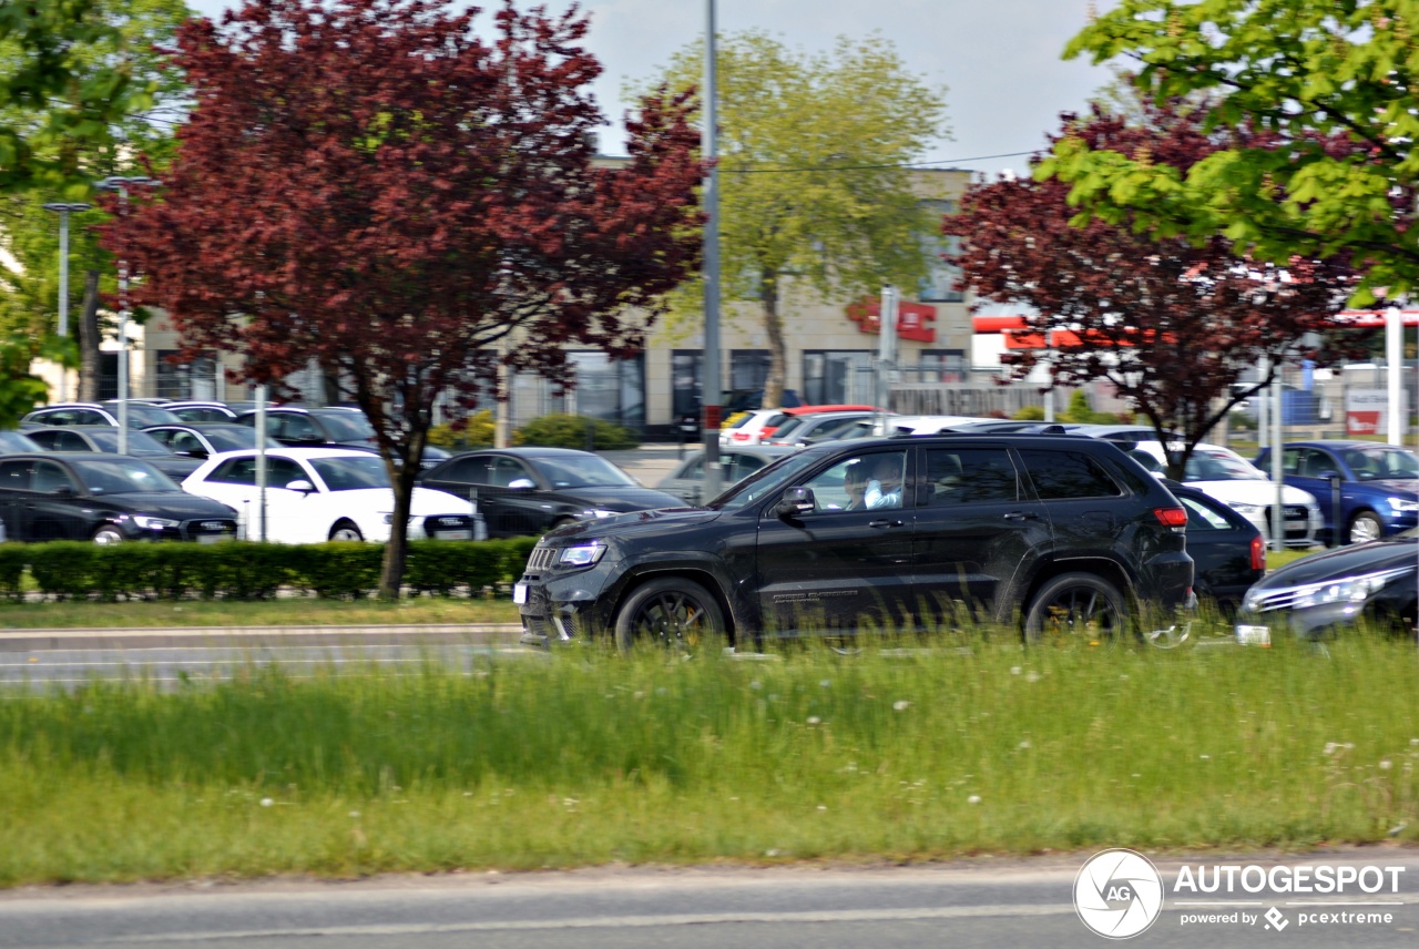
<svg viewBox="0 0 1419 949">
<path fill-rule="evenodd" d="M 1256 467 L 1271 470 L 1270 448 L 1257 455 Z M 1288 441 L 1281 447 L 1281 471 L 1286 484 L 1315 495 L 1327 540 L 1340 536 L 1344 543 L 1364 543 L 1419 523 L 1419 455 L 1409 448 L 1374 441 Z M 1338 512 L 1334 478 L 1340 478 Z"/>
</svg>

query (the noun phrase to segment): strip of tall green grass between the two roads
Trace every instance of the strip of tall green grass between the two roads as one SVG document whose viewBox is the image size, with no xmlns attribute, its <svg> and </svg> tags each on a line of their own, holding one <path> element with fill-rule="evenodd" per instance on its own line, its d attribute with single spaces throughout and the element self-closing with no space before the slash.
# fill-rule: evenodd
<svg viewBox="0 0 1419 949">
<path fill-rule="evenodd" d="M 16 692 L 0 884 L 1413 841 L 1416 694 L 1368 636 Z"/>
</svg>

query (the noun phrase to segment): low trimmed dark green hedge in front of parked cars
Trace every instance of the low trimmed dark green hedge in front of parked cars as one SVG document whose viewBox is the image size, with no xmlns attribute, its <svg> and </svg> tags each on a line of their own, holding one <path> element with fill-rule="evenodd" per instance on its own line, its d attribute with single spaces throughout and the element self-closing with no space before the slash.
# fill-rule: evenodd
<svg viewBox="0 0 1419 949">
<path fill-rule="evenodd" d="M 522 573 L 536 538 L 410 540 L 404 583 L 416 593 L 501 592 Z M 268 600 L 280 587 L 355 599 L 379 586 L 377 543 L 0 543 L 0 596 L 17 599 L 28 570 L 58 600 Z"/>
</svg>

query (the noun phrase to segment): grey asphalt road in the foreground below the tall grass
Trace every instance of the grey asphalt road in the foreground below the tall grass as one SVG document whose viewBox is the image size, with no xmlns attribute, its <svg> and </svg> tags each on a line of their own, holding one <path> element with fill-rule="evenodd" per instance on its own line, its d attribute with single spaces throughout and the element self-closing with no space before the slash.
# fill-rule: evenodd
<svg viewBox="0 0 1419 949">
<path fill-rule="evenodd" d="M 1208 858 L 1210 860 L 1210 858 Z M 1098 949 L 1073 905 L 1078 860 L 883 870 L 593 870 L 400 877 L 348 884 L 75 887 L 0 895 L 0 948 L 636 949 L 731 945 L 1060 946 Z M 1253 862 L 1239 861 L 1239 862 Z M 1276 861 L 1257 858 L 1271 867 Z M 1310 862 L 1403 867 L 1385 906 L 1293 905 L 1242 894 L 1205 909 L 1169 895 L 1137 946 L 1401 948 L 1419 940 L 1419 857 L 1314 855 Z M 1159 864 L 1172 881 L 1176 867 Z M 1349 897 L 1347 897 L 1351 899 Z M 1365 897 L 1374 901 L 1376 897 Z M 1280 929 L 1266 916 L 1277 909 Z M 1389 912 L 1388 923 L 1304 922 L 1300 914 Z M 1198 912 L 1222 916 L 1186 922 Z M 1232 922 L 1249 912 L 1254 923 Z"/>
</svg>

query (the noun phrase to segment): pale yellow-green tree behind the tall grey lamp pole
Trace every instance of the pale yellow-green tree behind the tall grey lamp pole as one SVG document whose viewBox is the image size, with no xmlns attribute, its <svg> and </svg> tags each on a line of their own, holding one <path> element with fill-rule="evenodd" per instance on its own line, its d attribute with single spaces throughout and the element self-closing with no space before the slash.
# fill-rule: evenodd
<svg viewBox="0 0 1419 949">
<path fill-rule="evenodd" d="M 704 45 L 675 54 L 657 82 L 701 82 Z M 925 277 L 922 234 L 939 217 L 907 163 L 946 133 L 945 89 L 921 82 L 880 35 L 805 54 L 766 33 L 717 44 L 719 245 L 725 299 L 758 304 L 772 362 L 763 404 L 782 401 L 788 291 L 860 296 Z M 688 285 L 677 311 L 700 313 Z"/>
</svg>

